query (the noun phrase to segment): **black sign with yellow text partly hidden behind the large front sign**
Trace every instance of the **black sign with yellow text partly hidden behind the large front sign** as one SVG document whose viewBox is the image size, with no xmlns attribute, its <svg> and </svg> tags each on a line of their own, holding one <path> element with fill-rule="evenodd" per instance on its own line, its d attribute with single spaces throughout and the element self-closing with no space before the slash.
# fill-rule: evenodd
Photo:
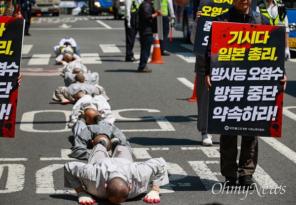
<svg viewBox="0 0 296 205">
<path fill-rule="evenodd" d="M 233 0 L 200 0 L 198 10 L 202 13 L 197 21 L 193 54 L 205 55 L 213 19 L 227 12 L 232 6 Z M 253 0 L 250 7 L 256 11 L 256 6 L 257 1 Z"/>
</svg>

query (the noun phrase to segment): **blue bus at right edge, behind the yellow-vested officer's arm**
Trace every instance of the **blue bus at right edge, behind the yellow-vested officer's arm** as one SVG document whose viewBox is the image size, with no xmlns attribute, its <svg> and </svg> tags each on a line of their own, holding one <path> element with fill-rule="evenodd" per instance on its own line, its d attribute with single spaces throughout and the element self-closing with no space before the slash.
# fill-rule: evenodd
<svg viewBox="0 0 296 205">
<path fill-rule="evenodd" d="M 289 22 L 289 47 L 296 49 L 296 0 L 283 0 Z"/>
</svg>

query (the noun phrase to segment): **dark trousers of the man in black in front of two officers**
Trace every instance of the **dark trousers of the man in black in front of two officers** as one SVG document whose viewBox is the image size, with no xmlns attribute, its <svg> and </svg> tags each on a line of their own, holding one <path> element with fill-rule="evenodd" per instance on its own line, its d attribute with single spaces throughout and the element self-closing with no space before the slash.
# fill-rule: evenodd
<svg viewBox="0 0 296 205">
<path fill-rule="evenodd" d="M 141 43 L 141 56 L 140 56 L 140 63 L 139 68 L 144 69 L 147 65 L 148 58 L 150 55 L 150 49 L 152 45 L 153 35 L 143 35 L 140 34 L 140 43 Z"/>
</svg>

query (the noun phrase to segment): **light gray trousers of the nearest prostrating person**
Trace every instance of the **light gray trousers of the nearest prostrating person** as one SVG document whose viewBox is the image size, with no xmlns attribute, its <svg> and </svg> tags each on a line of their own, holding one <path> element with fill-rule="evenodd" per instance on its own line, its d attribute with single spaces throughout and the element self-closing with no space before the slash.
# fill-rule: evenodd
<svg viewBox="0 0 296 205">
<path fill-rule="evenodd" d="M 102 144 L 97 144 L 91 151 L 89 158 L 87 160 L 87 164 L 95 164 L 100 159 L 104 159 L 109 157 L 109 154 L 107 152 L 106 147 L 104 147 Z M 119 158 L 125 158 L 133 161 L 133 158 L 131 156 L 131 153 L 129 152 L 128 148 L 126 146 L 117 145 L 114 152 L 112 153 L 113 157 L 119 157 Z"/>
</svg>

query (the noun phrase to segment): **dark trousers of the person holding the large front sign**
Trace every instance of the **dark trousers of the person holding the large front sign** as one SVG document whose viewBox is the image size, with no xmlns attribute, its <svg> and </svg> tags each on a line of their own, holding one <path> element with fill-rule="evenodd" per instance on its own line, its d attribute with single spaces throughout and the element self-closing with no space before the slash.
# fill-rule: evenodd
<svg viewBox="0 0 296 205">
<path fill-rule="evenodd" d="M 238 178 L 252 175 L 258 162 L 258 137 L 242 136 L 241 151 L 237 164 L 237 136 L 220 136 L 221 174 Z"/>
</svg>

